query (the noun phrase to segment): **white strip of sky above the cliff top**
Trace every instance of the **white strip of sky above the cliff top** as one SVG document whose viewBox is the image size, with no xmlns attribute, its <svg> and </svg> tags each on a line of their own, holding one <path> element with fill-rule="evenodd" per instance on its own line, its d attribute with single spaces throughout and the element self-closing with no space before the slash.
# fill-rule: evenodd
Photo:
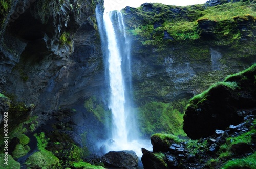
<svg viewBox="0 0 256 169">
<path fill-rule="evenodd" d="M 166 5 L 186 6 L 203 4 L 207 0 L 104 0 L 105 11 L 121 10 L 126 6 L 139 7 L 144 3 L 162 3 Z"/>
</svg>

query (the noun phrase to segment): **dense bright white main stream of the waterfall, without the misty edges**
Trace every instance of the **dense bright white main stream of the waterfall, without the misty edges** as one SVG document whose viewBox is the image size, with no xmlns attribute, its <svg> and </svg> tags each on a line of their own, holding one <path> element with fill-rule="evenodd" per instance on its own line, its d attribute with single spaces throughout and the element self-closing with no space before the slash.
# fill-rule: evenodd
<svg viewBox="0 0 256 169">
<path fill-rule="evenodd" d="M 113 11 L 105 12 L 103 15 L 109 51 L 108 63 L 111 89 L 109 108 L 112 111 L 113 120 L 112 138 L 117 144 L 125 145 L 128 143 L 128 131 L 126 128 L 125 87 L 121 69 L 122 55 L 117 45 L 117 37 L 111 21 L 112 13 Z M 118 24 L 119 27 L 123 26 L 120 22 Z"/>
</svg>

